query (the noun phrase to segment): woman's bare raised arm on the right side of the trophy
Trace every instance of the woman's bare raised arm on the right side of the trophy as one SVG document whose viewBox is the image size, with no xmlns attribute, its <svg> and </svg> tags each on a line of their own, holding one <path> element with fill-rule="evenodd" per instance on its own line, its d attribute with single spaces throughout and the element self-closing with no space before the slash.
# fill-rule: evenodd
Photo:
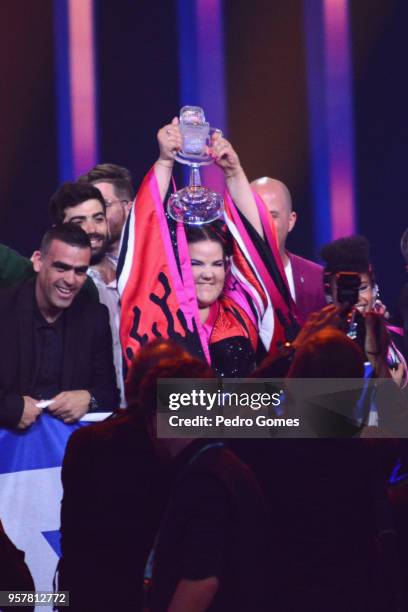
<svg viewBox="0 0 408 612">
<path fill-rule="evenodd" d="M 258 214 L 255 197 L 249 181 L 241 166 L 239 157 L 230 142 L 220 134 L 214 134 L 210 155 L 225 175 L 228 191 L 239 211 L 248 219 L 252 227 L 263 236 L 261 220 Z"/>
</svg>

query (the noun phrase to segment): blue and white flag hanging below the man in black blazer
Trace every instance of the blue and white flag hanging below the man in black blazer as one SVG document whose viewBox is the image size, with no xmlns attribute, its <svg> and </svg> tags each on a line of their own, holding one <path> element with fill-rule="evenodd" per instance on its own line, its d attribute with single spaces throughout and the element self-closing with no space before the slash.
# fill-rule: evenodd
<svg viewBox="0 0 408 612">
<path fill-rule="evenodd" d="M 0 519 L 25 552 L 37 591 L 53 590 L 60 556 L 61 465 L 68 438 L 83 425 L 86 421 L 65 425 L 44 411 L 27 431 L 0 429 Z"/>
</svg>

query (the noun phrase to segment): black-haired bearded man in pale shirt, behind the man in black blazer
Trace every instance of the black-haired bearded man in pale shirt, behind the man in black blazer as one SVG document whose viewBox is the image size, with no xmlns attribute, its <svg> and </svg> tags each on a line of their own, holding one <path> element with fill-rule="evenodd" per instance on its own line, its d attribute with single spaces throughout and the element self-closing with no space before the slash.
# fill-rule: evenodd
<svg viewBox="0 0 408 612">
<path fill-rule="evenodd" d="M 63 183 L 50 199 L 50 216 L 54 223 L 76 223 L 91 242 L 91 265 L 88 276 L 95 283 L 99 301 L 109 310 L 113 359 L 120 390 L 121 407 L 126 406 L 123 383 L 122 349 L 119 340 L 120 306 L 116 282 L 116 265 L 107 255 L 109 231 L 106 203 L 96 187 L 80 182 Z"/>
</svg>

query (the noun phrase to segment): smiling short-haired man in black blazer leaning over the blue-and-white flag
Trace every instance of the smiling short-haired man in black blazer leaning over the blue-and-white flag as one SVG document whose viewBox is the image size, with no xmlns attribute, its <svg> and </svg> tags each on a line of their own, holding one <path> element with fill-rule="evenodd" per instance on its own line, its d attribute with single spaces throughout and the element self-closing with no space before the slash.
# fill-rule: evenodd
<svg viewBox="0 0 408 612">
<path fill-rule="evenodd" d="M 78 225 L 54 226 L 33 255 L 36 278 L 2 292 L 0 426 L 26 429 L 43 400 L 65 423 L 118 406 L 108 312 L 78 295 L 90 258 Z"/>
</svg>

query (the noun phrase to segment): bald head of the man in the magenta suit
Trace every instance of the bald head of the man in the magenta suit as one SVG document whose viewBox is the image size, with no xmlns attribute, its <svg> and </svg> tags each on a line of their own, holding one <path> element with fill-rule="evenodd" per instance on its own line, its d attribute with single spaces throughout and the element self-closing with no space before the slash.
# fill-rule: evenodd
<svg viewBox="0 0 408 612">
<path fill-rule="evenodd" d="M 281 256 L 285 253 L 286 237 L 296 223 L 289 189 L 282 181 L 264 176 L 255 179 L 251 187 L 261 196 L 275 222 Z"/>
</svg>

